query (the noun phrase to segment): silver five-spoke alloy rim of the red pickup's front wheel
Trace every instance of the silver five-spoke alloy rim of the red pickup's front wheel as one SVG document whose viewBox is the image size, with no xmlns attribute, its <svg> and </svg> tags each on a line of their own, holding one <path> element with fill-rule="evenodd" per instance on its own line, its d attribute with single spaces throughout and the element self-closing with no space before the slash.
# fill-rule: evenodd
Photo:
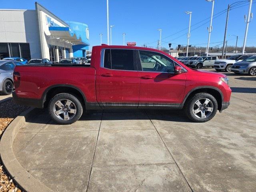
<svg viewBox="0 0 256 192">
<path fill-rule="evenodd" d="M 193 114 L 197 118 L 204 119 L 210 116 L 213 111 L 213 104 L 210 99 L 200 98 L 193 104 Z"/>
</svg>

